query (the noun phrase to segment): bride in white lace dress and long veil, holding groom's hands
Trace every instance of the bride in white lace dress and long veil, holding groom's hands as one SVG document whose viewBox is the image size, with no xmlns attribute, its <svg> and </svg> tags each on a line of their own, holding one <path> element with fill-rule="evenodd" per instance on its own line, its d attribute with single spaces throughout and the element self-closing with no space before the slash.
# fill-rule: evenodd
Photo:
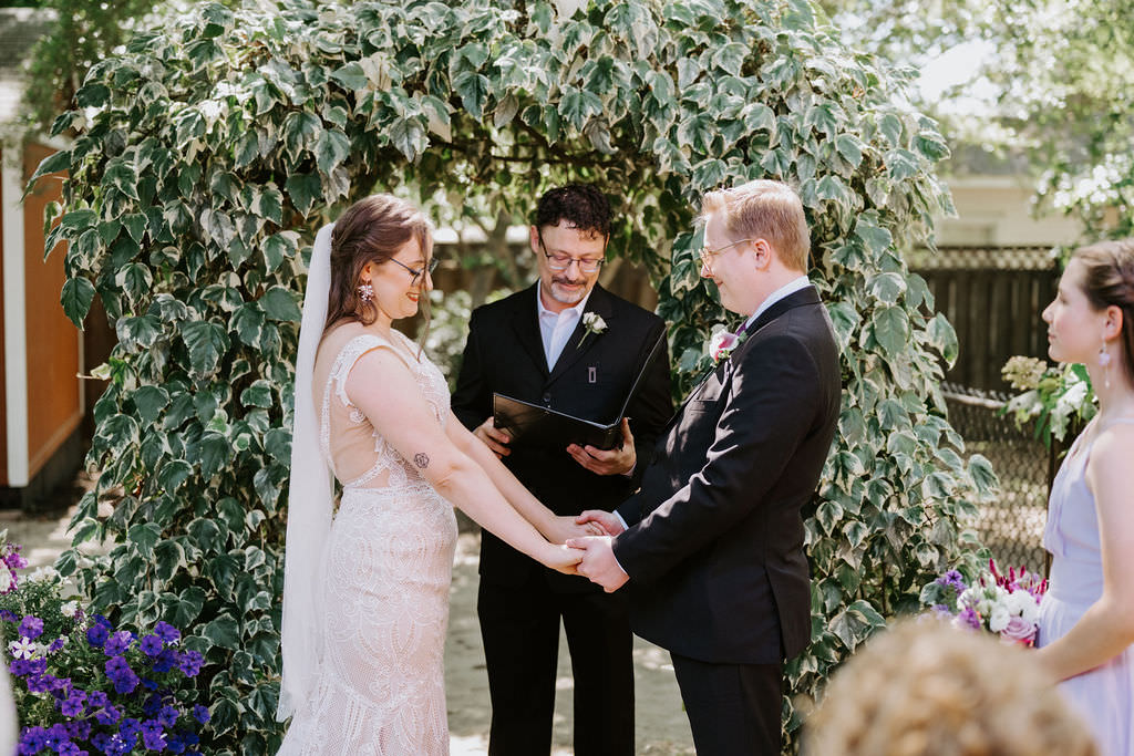
<svg viewBox="0 0 1134 756">
<path fill-rule="evenodd" d="M 280 754 L 448 754 L 442 654 L 452 504 L 548 567 L 578 526 L 536 501 L 449 409 L 393 321 L 432 288 L 432 237 L 374 195 L 319 231 L 299 354 L 284 588 Z M 333 484 L 342 485 L 332 519 Z M 450 503 L 451 502 L 451 503 Z M 541 535 L 542 534 L 542 535 Z"/>
</svg>

